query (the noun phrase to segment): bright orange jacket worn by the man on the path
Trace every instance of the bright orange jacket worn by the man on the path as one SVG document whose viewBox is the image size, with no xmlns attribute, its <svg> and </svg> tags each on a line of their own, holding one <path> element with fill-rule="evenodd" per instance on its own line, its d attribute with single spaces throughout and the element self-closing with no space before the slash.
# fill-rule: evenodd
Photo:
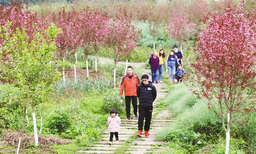
<svg viewBox="0 0 256 154">
<path fill-rule="evenodd" d="M 137 96 L 137 87 L 140 85 L 140 80 L 136 74 L 132 74 L 130 79 L 128 74 L 126 74 L 120 85 L 120 96 Z"/>
</svg>

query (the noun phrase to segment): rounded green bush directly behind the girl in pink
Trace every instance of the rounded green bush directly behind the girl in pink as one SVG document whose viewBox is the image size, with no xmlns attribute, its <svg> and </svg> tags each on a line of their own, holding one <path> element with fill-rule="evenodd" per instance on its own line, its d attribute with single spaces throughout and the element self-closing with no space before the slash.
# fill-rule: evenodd
<svg viewBox="0 0 256 154">
<path fill-rule="evenodd" d="M 111 109 L 116 109 L 118 113 L 124 112 L 124 101 L 120 101 L 118 90 L 110 90 L 103 97 L 102 110 L 109 114 Z"/>
</svg>

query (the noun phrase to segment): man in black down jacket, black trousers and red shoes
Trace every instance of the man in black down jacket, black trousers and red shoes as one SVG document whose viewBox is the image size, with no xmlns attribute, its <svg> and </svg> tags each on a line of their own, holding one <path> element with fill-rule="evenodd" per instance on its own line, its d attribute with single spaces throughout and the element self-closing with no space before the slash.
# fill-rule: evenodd
<svg viewBox="0 0 256 154">
<path fill-rule="evenodd" d="M 138 119 L 138 137 L 142 137 L 143 121 L 145 118 L 145 136 L 149 136 L 148 131 L 152 118 L 153 102 L 156 99 L 156 87 L 148 80 L 148 75 L 141 77 L 142 82 L 137 88 L 137 97 L 139 98 L 139 119 Z"/>
</svg>

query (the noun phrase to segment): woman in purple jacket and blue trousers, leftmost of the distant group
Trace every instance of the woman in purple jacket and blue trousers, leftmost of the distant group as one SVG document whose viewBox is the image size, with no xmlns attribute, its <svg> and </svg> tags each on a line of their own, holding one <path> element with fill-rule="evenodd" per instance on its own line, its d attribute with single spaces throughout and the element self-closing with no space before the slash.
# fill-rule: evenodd
<svg viewBox="0 0 256 154">
<path fill-rule="evenodd" d="M 159 58 L 157 56 L 157 51 L 154 51 L 154 54 L 149 58 L 148 63 L 150 64 L 151 74 L 152 74 L 152 83 L 157 82 L 157 69 L 159 67 Z"/>
</svg>

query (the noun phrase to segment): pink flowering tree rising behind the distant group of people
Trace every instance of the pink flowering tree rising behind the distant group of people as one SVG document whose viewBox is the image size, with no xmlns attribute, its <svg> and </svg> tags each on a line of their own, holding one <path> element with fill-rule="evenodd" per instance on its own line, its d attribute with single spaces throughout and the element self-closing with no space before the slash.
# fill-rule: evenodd
<svg viewBox="0 0 256 154">
<path fill-rule="evenodd" d="M 175 12 L 175 9 L 173 11 Z M 189 22 L 187 14 L 176 13 L 172 18 L 172 23 L 166 24 L 166 30 L 171 38 L 179 42 L 182 50 L 181 42 L 192 35 L 195 25 Z"/>
</svg>

